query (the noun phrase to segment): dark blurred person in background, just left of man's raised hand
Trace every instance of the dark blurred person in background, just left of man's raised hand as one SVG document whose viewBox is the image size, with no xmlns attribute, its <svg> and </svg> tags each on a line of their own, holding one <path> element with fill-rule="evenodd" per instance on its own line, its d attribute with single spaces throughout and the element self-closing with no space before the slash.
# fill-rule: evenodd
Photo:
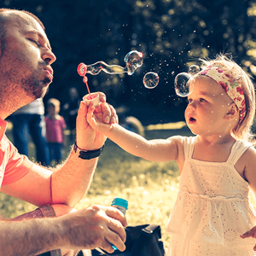
<svg viewBox="0 0 256 256">
<path fill-rule="evenodd" d="M 74 143 L 76 119 L 81 99 L 79 96 L 79 91 L 75 87 L 70 88 L 68 94 L 69 97 L 67 102 L 63 105 L 63 110 L 65 113 L 67 127 L 70 130 L 70 143 Z"/>
</svg>

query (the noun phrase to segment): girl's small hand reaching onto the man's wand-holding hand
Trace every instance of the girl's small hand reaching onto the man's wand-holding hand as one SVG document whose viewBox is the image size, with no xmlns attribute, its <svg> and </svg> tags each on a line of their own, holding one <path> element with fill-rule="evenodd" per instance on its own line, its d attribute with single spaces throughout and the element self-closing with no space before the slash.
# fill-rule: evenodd
<svg viewBox="0 0 256 256">
<path fill-rule="evenodd" d="M 108 133 L 112 129 L 112 124 L 116 123 L 117 120 L 116 118 L 113 117 L 113 119 L 108 120 L 109 123 L 106 122 L 105 118 L 102 115 L 102 112 L 98 113 L 97 109 L 94 108 L 92 106 L 92 103 L 90 102 L 88 113 L 87 113 L 87 122 L 90 125 L 90 127 L 93 128 L 95 131 Z"/>
</svg>

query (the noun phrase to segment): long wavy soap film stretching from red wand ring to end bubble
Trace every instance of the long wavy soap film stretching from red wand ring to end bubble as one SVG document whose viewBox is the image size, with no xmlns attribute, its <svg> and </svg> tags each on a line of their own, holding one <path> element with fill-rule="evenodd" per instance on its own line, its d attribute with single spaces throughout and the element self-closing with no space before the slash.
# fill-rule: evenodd
<svg viewBox="0 0 256 256">
<path fill-rule="evenodd" d="M 91 65 L 80 63 L 78 67 L 78 73 L 82 77 L 86 75 L 86 73 L 97 75 L 101 71 L 110 74 L 128 73 L 128 75 L 132 75 L 135 73 L 138 67 L 142 67 L 143 53 L 137 50 L 131 50 L 127 55 L 125 55 L 125 63 L 126 67 L 121 67 L 119 65 L 108 65 L 104 61 L 97 61 Z"/>
</svg>

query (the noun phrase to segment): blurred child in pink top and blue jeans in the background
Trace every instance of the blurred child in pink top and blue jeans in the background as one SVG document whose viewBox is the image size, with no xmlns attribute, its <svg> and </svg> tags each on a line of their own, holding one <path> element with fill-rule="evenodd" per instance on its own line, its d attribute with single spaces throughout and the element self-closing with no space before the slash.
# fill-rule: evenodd
<svg viewBox="0 0 256 256">
<path fill-rule="evenodd" d="M 55 160 L 56 165 L 61 163 L 62 146 L 65 146 L 64 131 L 66 123 L 64 118 L 59 114 L 61 103 L 54 98 L 47 102 L 48 114 L 45 117 L 46 123 L 46 140 L 49 147 L 49 160 Z"/>
</svg>

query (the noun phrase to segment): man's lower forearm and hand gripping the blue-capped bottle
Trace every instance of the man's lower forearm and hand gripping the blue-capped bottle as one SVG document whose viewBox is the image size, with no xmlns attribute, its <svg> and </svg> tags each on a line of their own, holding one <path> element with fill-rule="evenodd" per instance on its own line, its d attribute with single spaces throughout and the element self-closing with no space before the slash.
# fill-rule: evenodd
<svg viewBox="0 0 256 256">
<path fill-rule="evenodd" d="M 125 250 L 124 215 L 113 207 L 93 206 L 59 218 L 0 221 L 0 255 L 23 256 L 55 249 L 101 247 Z M 109 241 L 109 242 L 108 242 Z"/>
</svg>

